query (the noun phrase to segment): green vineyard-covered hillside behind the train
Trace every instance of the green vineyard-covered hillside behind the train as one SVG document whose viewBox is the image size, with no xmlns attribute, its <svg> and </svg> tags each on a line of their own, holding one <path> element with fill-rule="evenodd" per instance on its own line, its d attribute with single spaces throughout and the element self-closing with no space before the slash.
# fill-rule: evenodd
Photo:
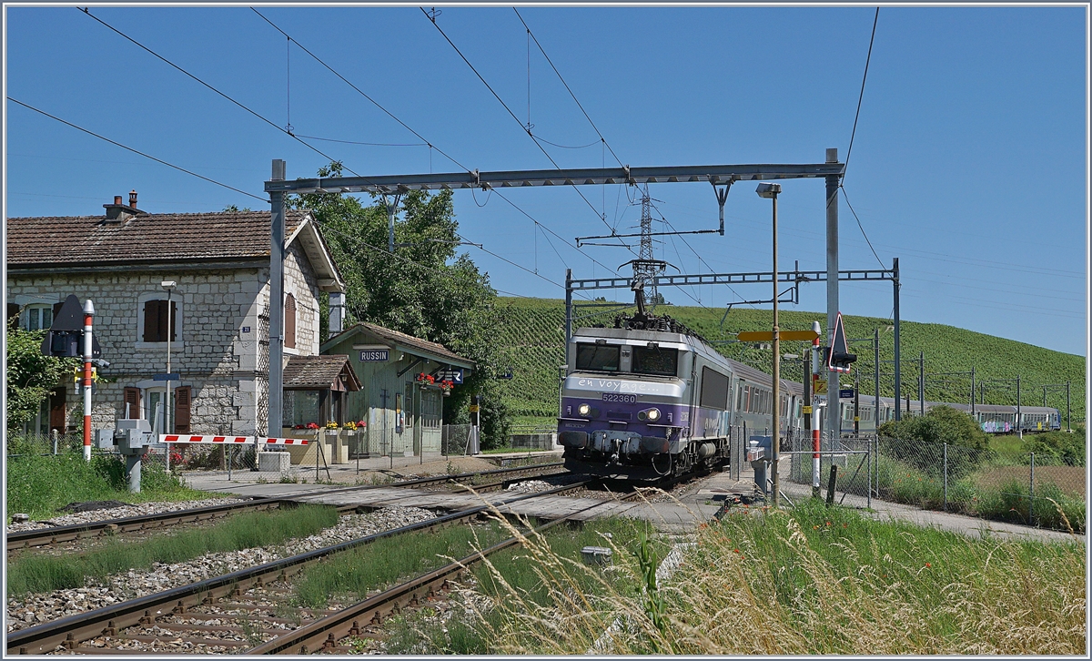
<svg viewBox="0 0 1092 661">
<path fill-rule="evenodd" d="M 601 297 L 602 298 L 602 297 Z M 596 300 L 600 300 L 598 298 Z M 604 300 L 600 300 L 605 303 Z M 619 307 L 631 302 L 620 303 Z M 513 415 L 534 416 L 539 420 L 554 418 L 556 424 L 558 405 L 558 366 L 565 363 L 565 300 L 556 298 L 521 298 L 500 297 L 498 307 L 506 314 L 507 323 L 497 328 L 499 335 L 502 364 L 512 367 L 514 378 L 500 382 L 500 392 Z M 612 310 L 602 312 L 598 310 Z M 578 318 L 573 328 L 584 328 L 595 324 L 610 326 L 617 311 L 614 308 L 580 308 L 573 312 Z M 630 310 L 631 311 L 631 310 Z M 673 305 L 666 310 L 672 317 L 687 324 L 707 340 L 729 340 L 741 331 L 770 330 L 771 310 L 733 308 L 724 319 L 724 310 L 701 307 Z M 783 330 L 805 330 L 811 328 L 812 321 L 819 321 L 820 328 L 826 327 L 826 312 L 809 312 L 798 310 L 780 311 L 780 326 Z M 850 338 L 871 338 L 879 329 L 880 344 L 880 394 L 894 396 L 894 378 L 891 375 L 891 363 L 894 354 L 894 333 L 887 328 L 893 323 L 891 319 L 877 317 L 843 316 L 845 331 Z M 964 402 L 970 400 L 971 377 L 946 376 L 929 378 L 935 371 L 966 371 L 974 367 L 977 385 L 987 385 L 985 394 L 989 404 L 1016 404 L 1016 388 L 1005 383 L 989 383 L 989 379 L 1014 379 L 1018 375 L 1023 381 L 1023 405 L 1042 405 L 1041 385 L 1071 381 L 1072 420 L 1075 426 L 1084 420 L 1084 358 L 1057 351 L 1051 351 L 1031 344 L 995 338 L 974 331 L 942 326 L 938 323 L 915 323 L 902 321 L 900 331 L 902 341 L 902 358 L 916 357 L 918 352 L 925 353 L 926 386 L 925 398 L 929 401 Z M 782 342 L 785 353 L 800 354 L 806 351 L 804 342 Z M 853 364 L 853 373 L 842 376 L 842 382 L 857 378 L 865 393 L 873 391 L 873 375 L 875 358 L 873 347 L 868 343 L 854 344 L 857 362 Z M 716 350 L 736 361 L 769 373 L 770 352 L 759 350 L 752 343 L 720 344 Z M 888 363 L 882 363 L 887 361 Z M 916 371 L 907 373 L 903 368 L 902 394 L 914 390 L 916 397 Z M 783 363 L 782 376 L 799 381 L 803 378 L 798 362 Z M 911 379 L 914 383 L 911 385 Z M 942 380 L 956 381 L 942 383 Z M 1047 405 L 1061 411 L 1065 416 L 1065 393 L 1053 390 L 1048 393 Z M 1063 424 L 1065 422 L 1063 421 Z"/>
</svg>

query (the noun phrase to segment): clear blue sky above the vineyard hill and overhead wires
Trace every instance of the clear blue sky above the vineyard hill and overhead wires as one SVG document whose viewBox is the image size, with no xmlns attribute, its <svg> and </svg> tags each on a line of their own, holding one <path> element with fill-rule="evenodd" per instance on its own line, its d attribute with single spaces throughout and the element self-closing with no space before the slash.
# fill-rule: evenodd
<svg viewBox="0 0 1092 661">
<path fill-rule="evenodd" d="M 263 8 L 262 13 L 467 168 L 550 167 L 415 7 Z M 565 81 L 622 163 L 691 165 L 844 160 L 874 8 L 523 8 Z M 300 135 L 419 142 L 248 8 L 94 8 L 92 13 Z M 844 180 L 841 268 L 902 269 L 902 317 L 1084 355 L 1087 44 L 1081 8 L 880 10 Z M 617 165 L 511 8 L 447 7 L 438 24 L 562 167 Z M 186 78 L 74 8 L 12 8 L 7 94 L 173 164 L 261 196 L 272 158 L 290 178 L 323 157 Z M 286 80 L 286 73 L 287 80 Z M 289 93 L 290 91 L 290 93 Z M 290 114 L 289 114 L 290 113 Z M 5 212 L 103 213 L 129 190 L 150 212 L 261 202 L 146 161 L 8 102 Z M 460 172 L 427 146 L 311 141 L 360 175 Z M 735 186 L 724 237 L 678 237 L 656 256 L 682 272 L 768 271 L 770 204 Z M 633 232 L 622 187 L 512 190 L 508 198 L 570 244 Z M 656 185 L 679 229 L 716 225 L 708 184 Z M 602 276 L 632 258 L 577 250 L 496 196 L 459 192 L 472 257 L 505 293 L 561 297 L 565 269 Z M 826 269 L 821 180 L 783 182 L 782 269 Z M 658 227 L 657 227 L 658 229 Z M 549 237 L 547 239 L 547 236 Z M 700 256 L 700 261 L 697 255 Z M 600 263 L 595 263 L 597 260 Z M 605 265 L 604 265 L 605 264 Z M 609 268 L 606 268 L 609 267 Z M 619 291 L 619 297 L 628 292 Z M 767 286 L 665 291 L 724 309 Z M 843 283 L 844 314 L 891 315 L 888 283 Z M 823 285 L 797 309 L 823 311 Z M 821 318 L 821 317 L 820 317 Z"/>
</svg>

